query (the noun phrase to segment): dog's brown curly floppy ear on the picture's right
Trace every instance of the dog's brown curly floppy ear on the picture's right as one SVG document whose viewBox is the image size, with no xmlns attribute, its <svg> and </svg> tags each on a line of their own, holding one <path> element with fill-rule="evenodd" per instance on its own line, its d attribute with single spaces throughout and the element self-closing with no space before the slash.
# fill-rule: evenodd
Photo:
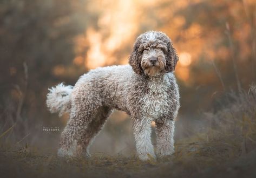
<svg viewBox="0 0 256 178">
<path fill-rule="evenodd" d="M 165 70 L 167 72 L 173 72 L 175 70 L 176 64 L 179 60 L 177 51 L 173 47 L 173 43 L 169 41 L 167 43 L 167 59 L 166 59 L 166 67 Z"/>
</svg>

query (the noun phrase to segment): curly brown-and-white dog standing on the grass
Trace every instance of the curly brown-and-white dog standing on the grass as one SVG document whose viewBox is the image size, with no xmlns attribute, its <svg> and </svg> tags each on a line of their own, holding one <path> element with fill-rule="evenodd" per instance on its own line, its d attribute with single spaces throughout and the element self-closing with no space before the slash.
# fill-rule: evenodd
<svg viewBox="0 0 256 178">
<path fill-rule="evenodd" d="M 61 135 L 59 156 L 88 156 L 88 148 L 113 109 L 132 119 L 137 154 L 141 160 L 155 158 L 151 142 L 156 124 L 158 156 L 174 153 L 174 119 L 178 114 L 179 88 L 174 69 L 179 60 L 165 33 L 140 35 L 129 65 L 99 67 L 81 76 L 74 87 L 59 84 L 47 95 L 52 113 L 70 113 Z"/>
</svg>

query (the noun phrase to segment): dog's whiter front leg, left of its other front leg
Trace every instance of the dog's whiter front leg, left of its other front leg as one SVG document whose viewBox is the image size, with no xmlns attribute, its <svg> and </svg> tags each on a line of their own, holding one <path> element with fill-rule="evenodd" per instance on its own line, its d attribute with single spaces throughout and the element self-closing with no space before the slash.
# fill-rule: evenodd
<svg viewBox="0 0 256 178">
<path fill-rule="evenodd" d="M 149 118 L 132 118 L 136 150 L 142 161 L 155 159 L 154 147 L 151 142 L 151 121 Z"/>
</svg>

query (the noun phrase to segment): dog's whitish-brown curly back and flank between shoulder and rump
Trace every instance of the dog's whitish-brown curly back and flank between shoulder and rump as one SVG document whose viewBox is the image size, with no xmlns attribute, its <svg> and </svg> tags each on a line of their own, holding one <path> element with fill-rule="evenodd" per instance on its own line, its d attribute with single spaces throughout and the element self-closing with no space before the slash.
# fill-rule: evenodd
<svg viewBox="0 0 256 178">
<path fill-rule="evenodd" d="M 102 105 L 128 112 L 127 90 L 131 85 L 130 80 L 135 75 L 130 65 L 99 67 L 83 74 L 71 94 L 83 92 L 80 94 L 81 97 L 89 95 L 91 99 L 100 100 Z"/>
</svg>

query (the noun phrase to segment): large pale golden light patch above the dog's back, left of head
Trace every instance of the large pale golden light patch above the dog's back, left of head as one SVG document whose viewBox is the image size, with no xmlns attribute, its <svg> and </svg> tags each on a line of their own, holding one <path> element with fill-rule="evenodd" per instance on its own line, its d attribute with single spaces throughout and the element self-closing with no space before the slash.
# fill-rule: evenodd
<svg viewBox="0 0 256 178">
<path fill-rule="evenodd" d="M 84 65 L 87 69 L 113 64 L 117 60 L 115 52 L 127 43 L 131 43 L 138 31 L 139 14 L 135 10 L 137 2 L 125 0 L 115 1 L 115 3 L 101 1 L 101 3 L 106 8 L 102 9 L 98 1 L 90 4 L 95 11 L 102 12 L 97 22 L 99 29 L 89 28 L 86 36 L 80 35 L 75 39 L 77 56 L 84 56 L 81 49 L 88 46 L 84 56 L 86 59 Z M 81 60 L 82 58 L 76 57 L 73 62 L 79 65 Z M 118 61 L 127 64 L 128 57 L 126 60 L 122 58 Z"/>
</svg>

